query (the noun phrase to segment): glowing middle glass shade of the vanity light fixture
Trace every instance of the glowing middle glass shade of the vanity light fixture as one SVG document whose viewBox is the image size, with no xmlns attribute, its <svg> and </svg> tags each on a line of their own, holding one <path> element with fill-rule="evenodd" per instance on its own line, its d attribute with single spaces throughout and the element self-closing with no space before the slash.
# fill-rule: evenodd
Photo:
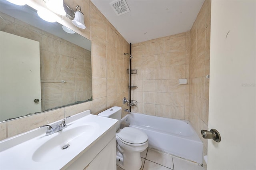
<svg viewBox="0 0 256 170">
<path fill-rule="evenodd" d="M 63 0 L 46 0 L 46 6 L 52 12 L 62 16 L 66 16 Z"/>
</svg>

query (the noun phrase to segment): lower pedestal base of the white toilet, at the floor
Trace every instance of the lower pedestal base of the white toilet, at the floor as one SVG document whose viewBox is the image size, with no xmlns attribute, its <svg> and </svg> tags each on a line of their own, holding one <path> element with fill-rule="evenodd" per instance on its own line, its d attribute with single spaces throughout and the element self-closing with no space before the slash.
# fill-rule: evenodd
<svg viewBox="0 0 256 170">
<path fill-rule="evenodd" d="M 116 164 L 124 170 L 139 170 L 142 166 L 140 152 L 124 152 L 116 155 Z"/>
</svg>

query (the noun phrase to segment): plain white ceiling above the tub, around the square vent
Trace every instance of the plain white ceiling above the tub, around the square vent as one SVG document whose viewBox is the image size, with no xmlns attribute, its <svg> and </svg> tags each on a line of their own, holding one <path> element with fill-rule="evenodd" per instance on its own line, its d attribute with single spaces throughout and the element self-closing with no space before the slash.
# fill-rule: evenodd
<svg viewBox="0 0 256 170">
<path fill-rule="evenodd" d="M 110 2 L 91 0 L 129 43 L 144 42 L 191 29 L 204 0 L 126 0 L 130 12 L 117 16 Z"/>
</svg>

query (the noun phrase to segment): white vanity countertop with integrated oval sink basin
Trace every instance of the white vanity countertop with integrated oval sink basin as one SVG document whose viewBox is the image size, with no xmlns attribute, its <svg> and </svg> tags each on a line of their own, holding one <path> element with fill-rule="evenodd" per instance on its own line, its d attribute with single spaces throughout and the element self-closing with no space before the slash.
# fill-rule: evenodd
<svg viewBox="0 0 256 170">
<path fill-rule="evenodd" d="M 54 127 L 61 121 L 52 123 L 51 126 Z M 70 162 L 86 154 L 96 141 L 104 140 L 110 129 L 114 137 L 116 122 L 115 119 L 91 115 L 90 111 L 85 111 L 66 119 L 68 127 L 49 136 L 45 135 L 46 128 L 37 128 L 2 140 L 0 169 L 65 168 Z M 65 149 L 62 149 L 63 146 Z"/>
</svg>

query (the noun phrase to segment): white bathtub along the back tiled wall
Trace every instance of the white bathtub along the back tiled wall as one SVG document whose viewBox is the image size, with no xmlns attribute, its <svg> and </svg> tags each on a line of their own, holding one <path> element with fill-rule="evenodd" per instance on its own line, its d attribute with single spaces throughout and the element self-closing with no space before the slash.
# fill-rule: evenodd
<svg viewBox="0 0 256 170">
<path fill-rule="evenodd" d="M 130 113 L 124 123 L 148 135 L 148 147 L 203 163 L 203 143 L 188 121 Z"/>
</svg>

